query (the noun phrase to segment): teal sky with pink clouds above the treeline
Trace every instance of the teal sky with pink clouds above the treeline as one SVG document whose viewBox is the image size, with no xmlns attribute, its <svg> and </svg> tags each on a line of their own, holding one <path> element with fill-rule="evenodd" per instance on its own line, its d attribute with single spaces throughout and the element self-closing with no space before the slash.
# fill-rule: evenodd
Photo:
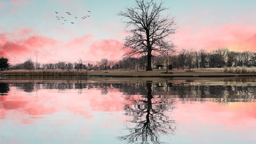
<svg viewBox="0 0 256 144">
<path fill-rule="evenodd" d="M 79 57 L 88 61 L 120 60 L 124 54 L 120 50 L 123 39 L 128 34 L 120 23 L 122 17 L 116 13 L 133 3 L 132 0 L 1 0 L 0 55 L 11 62 L 14 56 L 17 62 L 28 57 L 35 60 L 34 51 L 39 51 L 41 63 L 76 61 Z M 170 9 L 162 15 L 175 16 L 179 27 L 173 35 L 177 50 L 211 51 L 228 47 L 234 51 L 256 51 L 255 0 L 166 0 L 164 6 Z M 82 19 L 87 15 L 91 16 Z"/>
</svg>

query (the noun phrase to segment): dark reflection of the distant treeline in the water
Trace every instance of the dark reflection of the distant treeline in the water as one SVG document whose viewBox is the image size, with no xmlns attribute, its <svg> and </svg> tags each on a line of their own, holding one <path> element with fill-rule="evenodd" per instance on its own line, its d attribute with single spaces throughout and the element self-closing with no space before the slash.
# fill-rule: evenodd
<svg viewBox="0 0 256 144">
<path fill-rule="evenodd" d="M 97 89 L 104 91 L 119 91 L 124 95 L 146 95 L 146 83 L 109 84 L 109 83 L 10 83 L 25 92 L 39 89 Z M 106 93 L 103 92 L 103 93 Z M 216 102 L 252 102 L 256 99 L 255 86 L 222 86 L 222 85 L 184 85 L 177 86 L 172 83 L 152 84 L 152 94 L 184 101 L 216 101 Z"/>
</svg>

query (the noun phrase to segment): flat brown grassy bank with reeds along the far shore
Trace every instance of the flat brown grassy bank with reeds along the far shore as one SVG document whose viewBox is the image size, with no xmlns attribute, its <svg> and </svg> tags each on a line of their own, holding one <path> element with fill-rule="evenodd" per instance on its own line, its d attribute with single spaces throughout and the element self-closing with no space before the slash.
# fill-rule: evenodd
<svg viewBox="0 0 256 144">
<path fill-rule="evenodd" d="M 11 74 L 11 75 L 93 75 L 93 76 L 226 76 L 226 75 L 242 75 L 242 74 L 256 74 L 255 68 L 246 68 L 246 71 L 242 73 L 242 71 L 235 70 L 236 68 L 228 68 L 227 72 L 225 68 L 194 68 L 191 71 L 188 69 L 173 69 L 168 70 L 168 74 L 164 73 L 166 70 L 153 70 L 153 71 L 145 71 L 145 70 L 105 70 L 100 71 L 77 71 L 76 69 L 72 70 L 8 70 L 2 71 L 1 74 Z M 193 70 L 193 71 L 192 71 Z M 171 72 L 171 73 L 170 73 Z M 239 73 L 238 73 L 239 72 Z"/>
</svg>

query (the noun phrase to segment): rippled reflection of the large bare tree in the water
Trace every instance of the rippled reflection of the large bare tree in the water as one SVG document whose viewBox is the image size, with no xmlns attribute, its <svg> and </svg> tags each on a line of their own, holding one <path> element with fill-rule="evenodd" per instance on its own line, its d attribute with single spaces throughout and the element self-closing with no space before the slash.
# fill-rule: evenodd
<svg viewBox="0 0 256 144">
<path fill-rule="evenodd" d="M 176 129 L 175 121 L 169 117 L 172 113 L 174 101 L 167 96 L 153 96 L 152 83 L 147 83 L 147 94 L 127 95 L 124 105 L 125 115 L 132 116 L 129 123 L 135 124 L 132 128 L 126 125 L 128 135 L 118 137 L 128 143 L 159 144 L 162 135 L 173 135 Z M 130 104 L 128 104 L 130 103 Z"/>
</svg>

